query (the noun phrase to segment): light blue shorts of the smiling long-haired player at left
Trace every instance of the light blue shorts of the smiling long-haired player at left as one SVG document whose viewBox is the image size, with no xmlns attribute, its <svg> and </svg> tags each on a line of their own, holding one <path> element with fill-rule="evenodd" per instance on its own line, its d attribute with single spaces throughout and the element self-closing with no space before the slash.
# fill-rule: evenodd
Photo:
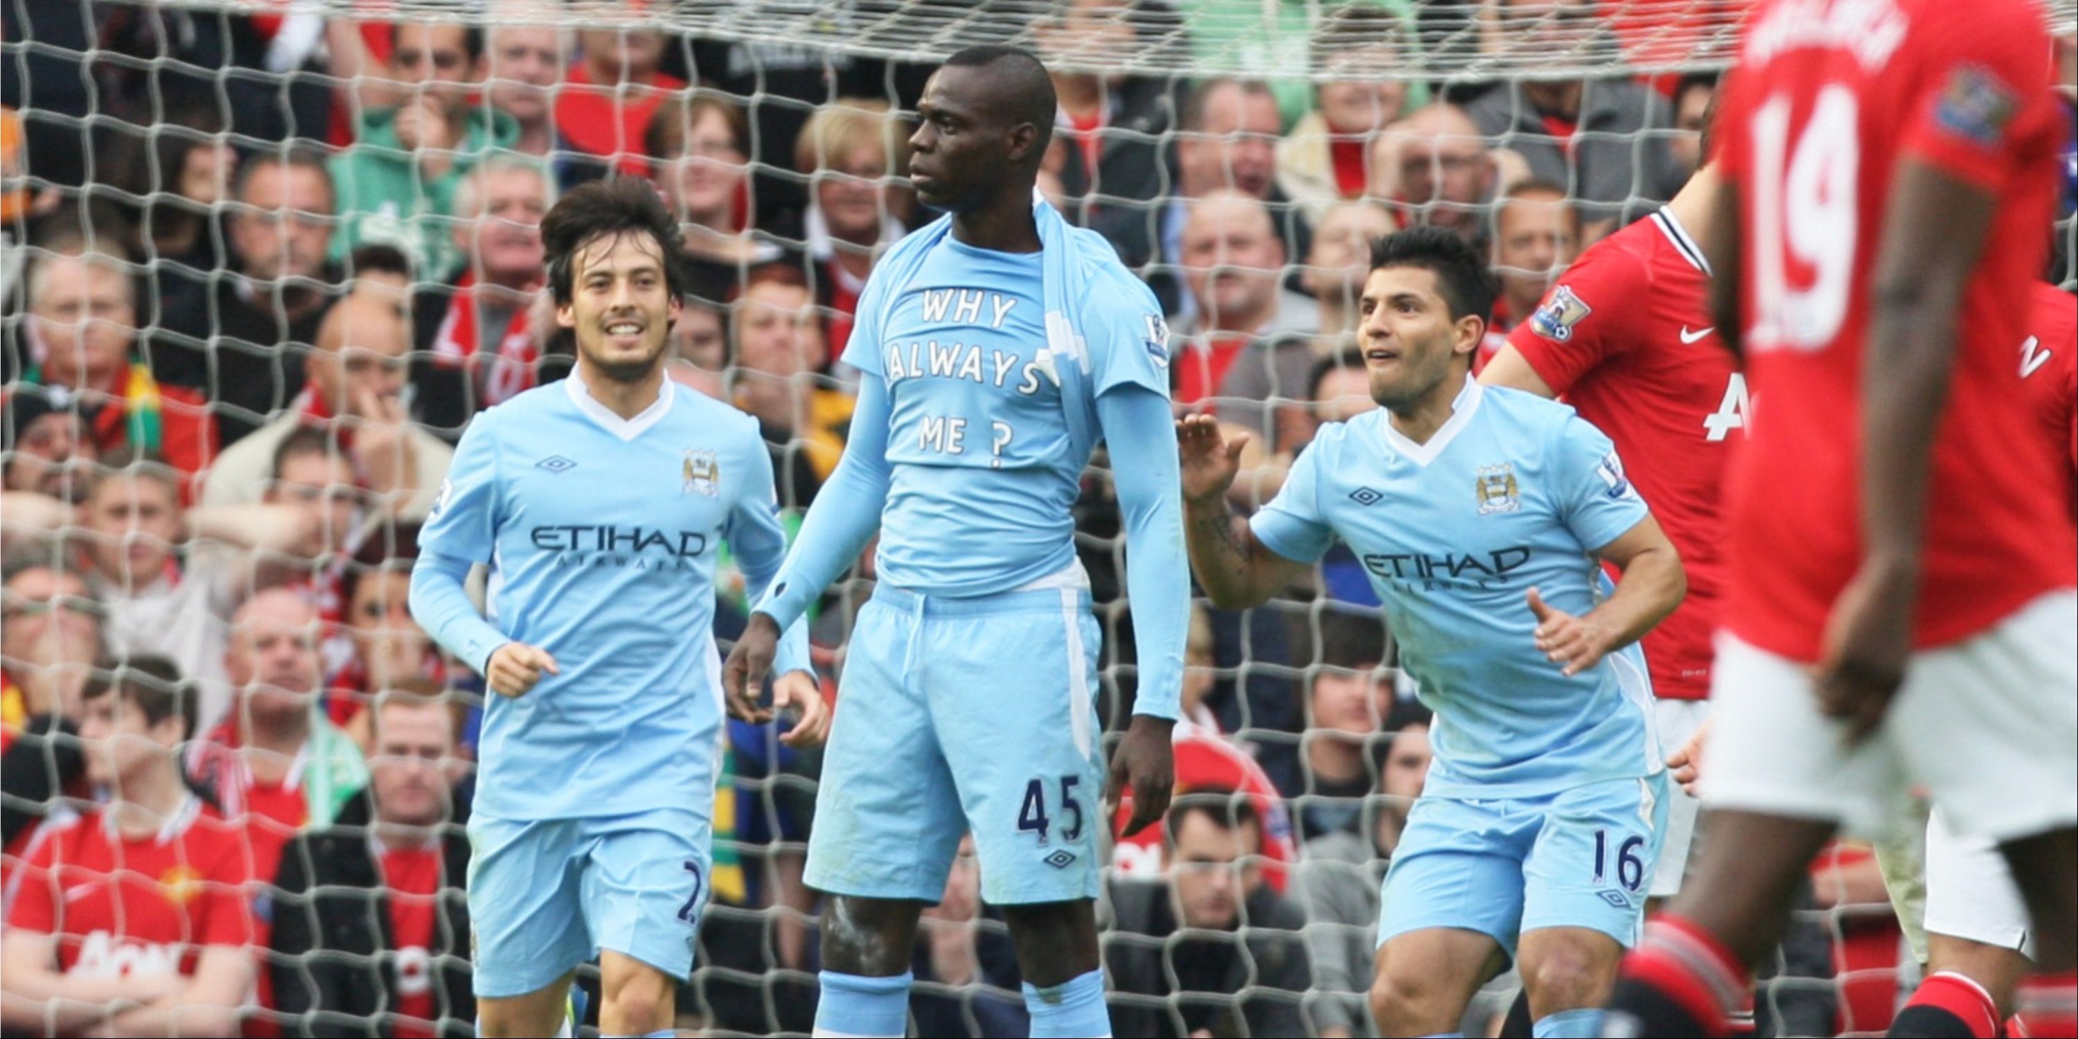
<svg viewBox="0 0 2078 1039">
<path fill-rule="evenodd" d="M 709 821 L 688 808 L 605 819 L 470 817 L 476 995 L 540 991 L 598 950 L 692 973 Z"/>
</svg>

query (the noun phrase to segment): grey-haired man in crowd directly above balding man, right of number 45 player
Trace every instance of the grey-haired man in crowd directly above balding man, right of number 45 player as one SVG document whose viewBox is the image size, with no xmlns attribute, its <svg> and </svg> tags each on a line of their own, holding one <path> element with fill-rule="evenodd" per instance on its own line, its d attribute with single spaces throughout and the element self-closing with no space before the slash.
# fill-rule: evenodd
<svg viewBox="0 0 2078 1039">
<path fill-rule="evenodd" d="M 1284 256 L 1305 256 L 1311 229 L 1305 216 L 1278 189 L 1276 141 L 1284 125 L 1278 121 L 1270 87 L 1251 79 L 1207 79 L 1184 100 L 1176 135 L 1176 189 L 1162 208 L 1160 239 L 1153 256 L 1162 268 L 1149 276 L 1155 297 L 1178 322 L 1197 308 L 1191 293 L 1176 293 L 1176 268 L 1189 266 L 1184 235 L 1195 212 L 1193 202 L 1222 191 L 1241 191 L 1263 204 L 1272 235 L 1284 245 Z M 1135 247 L 1114 241 L 1126 266 L 1139 266 Z M 1145 249 L 1141 249 L 1145 256 Z"/>
</svg>

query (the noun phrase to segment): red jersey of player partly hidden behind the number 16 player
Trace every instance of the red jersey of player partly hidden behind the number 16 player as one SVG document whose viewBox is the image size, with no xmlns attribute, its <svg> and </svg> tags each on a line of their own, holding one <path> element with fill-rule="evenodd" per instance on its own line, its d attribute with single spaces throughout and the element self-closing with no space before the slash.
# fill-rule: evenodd
<svg viewBox="0 0 2078 1039">
<path fill-rule="evenodd" d="M 1731 445 L 1746 441 L 1746 378 L 1710 328 L 1710 264 L 1673 212 L 1594 243 L 1509 345 L 1581 418 L 1608 434 L 1623 470 L 1681 553 L 1689 592 L 1646 640 L 1652 692 L 1710 696 L 1710 634 L 1723 596 L 1719 497 Z"/>
</svg>

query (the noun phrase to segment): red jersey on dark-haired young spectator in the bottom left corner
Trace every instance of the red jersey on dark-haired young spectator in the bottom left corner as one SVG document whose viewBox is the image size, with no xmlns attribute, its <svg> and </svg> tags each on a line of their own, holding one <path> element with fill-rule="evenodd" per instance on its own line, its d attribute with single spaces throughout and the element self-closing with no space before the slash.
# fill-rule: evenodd
<svg viewBox="0 0 2078 1039">
<path fill-rule="evenodd" d="M 58 970 L 193 975 L 204 945 L 251 945 L 251 879 L 239 827 L 202 798 L 152 837 L 104 812 L 44 823 L 8 894 L 6 923 L 58 935 Z"/>
</svg>

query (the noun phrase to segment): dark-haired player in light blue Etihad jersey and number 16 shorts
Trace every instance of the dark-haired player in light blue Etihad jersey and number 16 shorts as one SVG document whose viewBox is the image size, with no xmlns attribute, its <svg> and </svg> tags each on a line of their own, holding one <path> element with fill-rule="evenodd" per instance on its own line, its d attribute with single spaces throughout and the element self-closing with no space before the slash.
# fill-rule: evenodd
<svg viewBox="0 0 2078 1039">
<path fill-rule="evenodd" d="M 1382 407 L 1324 426 L 1247 524 L 1224 499 L 1245 434 L 1180 422 L 1191 563 L 1214 603 L 1270 598 L 1340 538 L 1436 711 L 1380 906 L 1384 1035 L 1453 1035 L 1511 958 L 1536 1035 L 1598 1035 L 1667 817 L 1635 642 L 1681 603 L 1681 561 L 1608 436 L 1471 380 L 1492 308 L 1484 258 L 1455 235 L 1374 243 L 1361 337 Z M 1623 574 L 1606 596 L 1602 561 Z"/>
</svg>

